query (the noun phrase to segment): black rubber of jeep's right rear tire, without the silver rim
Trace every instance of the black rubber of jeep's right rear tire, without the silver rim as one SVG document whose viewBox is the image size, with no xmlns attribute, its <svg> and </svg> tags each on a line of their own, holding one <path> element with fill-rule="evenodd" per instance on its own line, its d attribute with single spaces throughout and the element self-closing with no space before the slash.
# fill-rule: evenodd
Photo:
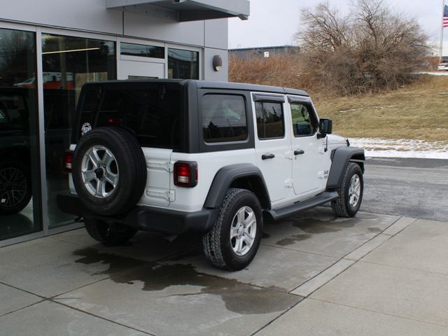
<svg viewBox="0 0 448 336">
<path fill-rule="evenodd" d="M 232 227 L 236 225 L 237 212 L 241 209 L 251 209 L 256 220 L 253 243 L 251 246 L 244 243 L 246 244 L 244 248 L 248 248 L 244 255 L 238 255 L 232 246 L 232 244 L 235 244 L 237 237 L 235 239 L 230 238 Z M 246 212 L 244 212 L 244 216 L 246 216 Z M 258 251 L 262 236 L 262 225 L 262 209 L 258 198 L 249 190 L 229 189 L 225 194 L 214 228 L 202 238 L 205 256 L 212 265 L 218 268 L 230 271 L 243 269 L 251 263 Z M 241 228 L 241 230 L 244 229 Z M 242 244 L 241 247 L 243 247 Z"/>
</svg>

